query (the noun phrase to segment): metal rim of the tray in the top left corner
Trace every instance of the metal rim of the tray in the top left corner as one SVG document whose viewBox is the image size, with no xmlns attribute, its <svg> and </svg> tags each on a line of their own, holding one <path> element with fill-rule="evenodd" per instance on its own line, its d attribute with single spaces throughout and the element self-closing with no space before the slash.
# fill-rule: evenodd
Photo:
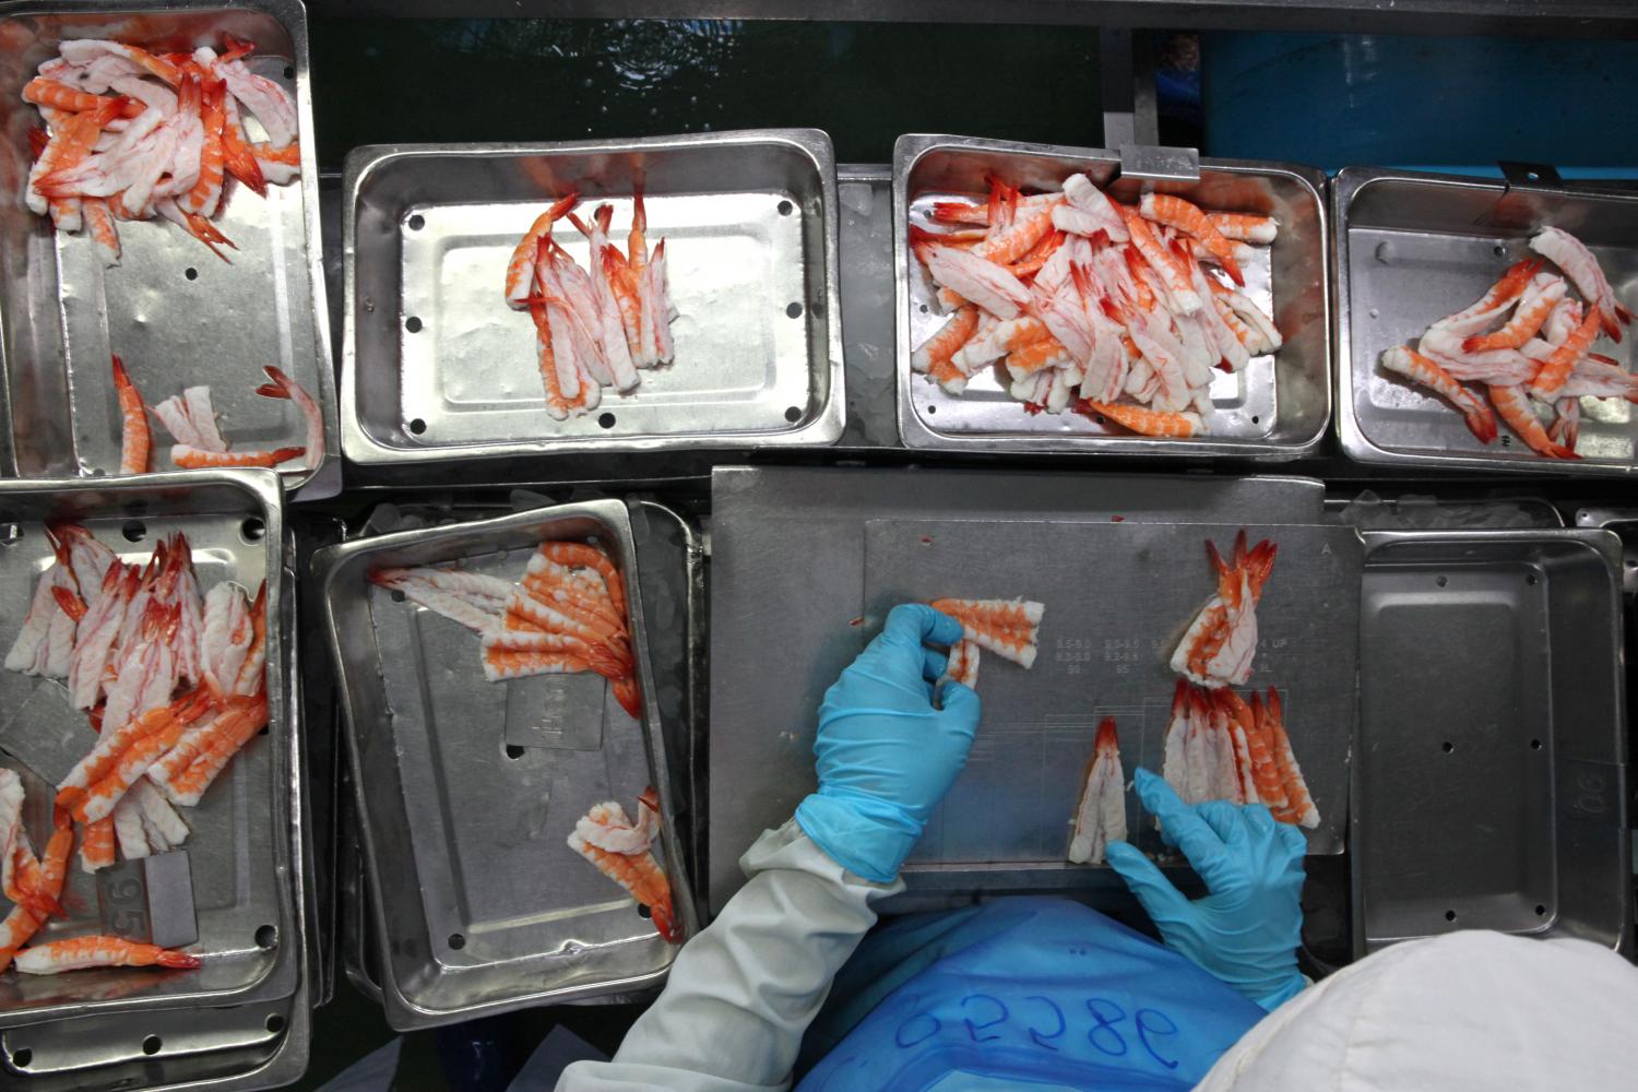
<svg viewBox="0 0 1638 1092">
<path fill-rule="evenodd" d="M 290 59 L 295 67 L 296 98 L 296 138 L 301 142 L 301 247 L 305 254 L 303 268 L 308 277 L 308 301 L 313 309 L 313 362 L 318 372 L 319 413 L 324 416 L 324 457 L 311 470 L 278 470 L 282 480 L 288 481 L 293 491 L 306 491 L 300 499 L 324 499 L 341 491 L 341 409 L 336 401 L 336 367 L 331 355 L 329 298 L 324 282 L 324 246 L 319 229 L 318 206 L 318 141 L 313 128 L 313 88 L 311 88 L 311 49 L 308 44 L 306 5 L 301 0 L 165 0 L 156 11 L 152 5 L 144 7 L 143 0 L 0 0 L 0 20 L 21 18 L 28 15 L 169 15 L 169 13 L 203 13 L 203 11 L 256 11 L 277 20 L 290 34 Z M 36 218 L 38 219 L 38 218 Z M 5 422 L 15 427 L 10 409 Z M 16 453 L 10 439 L 3 449 L 7 465 L 16 470 Z M 326 475 L 326 468 L 334 463 L 334 470 Z M 167 472 L 156 472 L 167 473 Z M 87 475 L 64 478 L 5 478 L 7 481 L 100 481 Z M 308 490 L 308 486 L 313 486 Z"/>
</svg>

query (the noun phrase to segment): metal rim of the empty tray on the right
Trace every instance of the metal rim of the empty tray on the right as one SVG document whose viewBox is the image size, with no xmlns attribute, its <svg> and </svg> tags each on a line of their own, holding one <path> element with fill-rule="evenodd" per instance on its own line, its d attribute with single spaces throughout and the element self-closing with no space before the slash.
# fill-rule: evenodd
<svg viewBox="0 0 1638 1092">
<path fill-rule="evenodd" d="M 1625 679 L 1622 678 L 1622 660 L 1623 660 L 1623 657 L 1622 657 L 1622 584 L 1620 584 L 1622 539 L 1620 539 L 1620 535 L 1617 535 L 1613 530 L 1609 530 L 1605 527 L 1536 527 L 1536 529 L 1528 529 L 1528 530 L 1527 529 L 1509 529 L 1509 530 L 1361 530 L 1360 535 L 1364 539 L 1364 570 L 1366 571 L 1371 568 L 1371 557 L 1374 553 L 1378 553 L 1381 550 L 1389 550 L 1389 548 L 1392 548 L 1397 544 L 1407 544 L 1407 542 L 1409 544 L 1419 544 L 1419 545 L 1440 544 L 1440 542 L 1451 544 L 1451 545 L 1461 545 L 1461 544 L 1473 544 L 1473 545 L 1477 545 L 1477 544 L 1499 544 L 1499 545 L 1505 545 L 1505 544 L 1564 542 L 1564 544 L 1581 545 L 1581 547 L 1584 547 L 1584 548 L 1592 550 L 1594 553 L 1597 553 L 1602 558 L 1602 562 L 1604 562 L 1604 573 L 1605 573 L 1605 580 L 1609 583 L 1609 594 L 1610 594 L 1610 601 L 1612 601 L 1609 640 L 1610 640 L 1610 647 L 1615 650 L 1615 657 L 1612 660 L 1612 675 L 1610 675 L 1610 689 L 1612 689 L 1613 697 L 1615 697 L 1615 725 L 1612 725 L 1613 727 L 1613 732 L 1612 732 L 1613 747 L 1612 747 L 1612 753 L 1610 753 L 1610 758 L 1609 758 L 1609 765 L 1617 766 L 1622 771 L 1628 769 L 1630 755 L 1628 755 L 1628 750 L 1627 750 L 1627 724 L 1628 724 L 1628 714 L 1627 714 L 1627 684 L 1625 684 Z M 1363 578 L 1361 578 L 1361 583 L 1363 583 Z M 1360 624 L 1361 624 L 1361 627 L 1364 624 L 1363 594 L 1364 594 L 1364 589 L 1361 588 L 1361 611 L 1360 611 Z M 1363 645 L 1361 645 L 1361 648 L 1363 648 Z M 1363 655 L 1363 652 L 1361 652 L 1361 655 Z M 1363 660 L 1360 663 L 1360 671 L 1361 673 L 1364 671 Z M 1364 732 L 1364 709 L 1363 709 L 1363 704 L 1360 702 L 1361 694 L 1363 694 L 1363 688 L 1356 686 L 1355 688 L 1356 709 L 1355 709 L 1355 717 L 1353 717 L 1353 724 L 1355 724 L 1353 751 L 1355 753 L 1363 753 L 1361 747 L 1364 745 L 1364 740 L 1360 737 L 1360 733 Z M 1617 801 L 1617 822 L 1610 824 L 1610 828 L 1615 833 L 1615 837 L 1613 837 L 1613 846 L 1612 846 L 1612 860 L 1618 863 L 1618 868 L 1622 869 L 1622 874 L 1625 876 L 1625 873 L 1627 873 L 1627 869 L 1630 866 L 1630 860 L 1631 860 L 1631 832 L 1628 828 L 1630 814 L 1627 814 L 1627 796 L 1622 794 L 1622 792 L 1615 792 L 1613 796 L 1615 796 L 1615 801 Z M 1361 855 L 1356 853 L 1356 851 L 1353 851 L 1353 845 L 1355 845 L 1355 840 L 1360 837 L 1360 825 L 1363 822 L 1361 820 L 1361 814 L 1364 814 L 1369 809 L 1364 807 L 1364 797 L 1363 797 L 1363 792 L 1361 792 L 1360 779 L 1355 778 L 1355 776 L 1350 776 L 1348 778 L 1348 845 L 1350 845 L 1350 853 L 1348 853 L 1348 887 L 1350 887 L 1348 904 L 1350 904 L 1350 915 L 1353 918 L 1350 932 L 1351 932 L 1353 958 L 1355 959 L 1363 958 L 1368 953 L 1368 945 L 1371 943 L 1371 936 L 1366 933 L 1366 928 L 1364 928 L 1364 884 L 1361 882 L 1361 878 L 1360 878 L 1360 873 L 1361 873 Z M 1554 828 L 1556 828 L 1556 825 L 1558 825 L 1558 820 L 1556 820 L 1556 815 L 1554 815 Z M 1558 838 L 1554 838 L 1554 868 L 1556 868 L 1556 846 L 1558 846 Z M 1625 897 L 1625 899 L 1622 899 L 1622 917 L 1620 917 L 1620 922 L 1617 922 L 1615 941 L 1610 945 L 1610 950 L 1615 951 L 1617 954 L 1625 954 L 1628 959 L 1631 958 L 1631 950 L 1628 948 L 1631 945 L 1631 932 L 1633 932 L 1633 902 L 1631 902 L 1630 897 Z M 1376 950 L 1379 951 L 1379 950 L 1382 950 L 1386 946 L 1397 945 L 1397 943 L 1402 943 L 1402 941 L 1407 941 L 1407 940 L 1425 940 L 1427 936 L 1440 936 L 1440 935 L 1443 935 L 1443 933 L 1428 933 L 1425 936 L 1378 938 L 1376 940 L 1376 945 L 1378 945 Z M 1525 936 L 1528 936 L 1528 935 L 1535 935 L 1535 933 L 1515 933 L 1515 935 L 1525 935 Z M 1541 935 L 1546 935 L 1546 933 L 1541 933 Z"/>
</svg>

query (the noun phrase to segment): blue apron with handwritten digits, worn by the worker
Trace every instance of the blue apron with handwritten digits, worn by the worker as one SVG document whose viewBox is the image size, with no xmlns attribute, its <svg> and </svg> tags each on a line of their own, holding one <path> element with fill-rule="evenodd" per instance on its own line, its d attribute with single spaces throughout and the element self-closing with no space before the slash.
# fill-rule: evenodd
<svg viewBox="0 0 1638 1092">
<path fill-rule="evenodd" d="M 896 974 L 898 964 L 909 974 Z M 845 995 L 811 1035 L 850 1027 L 798 1089 L 930 1089 L 952 1074 L 1099 1090 L 1191 1089 L 1263 1009 L 1186 958 L 1066 899 L 1002 899 L 888 927 L 855 954 L 880 999 Z M 868 1012 L 863 1012 L 868 1009 Z"/>
</svg>

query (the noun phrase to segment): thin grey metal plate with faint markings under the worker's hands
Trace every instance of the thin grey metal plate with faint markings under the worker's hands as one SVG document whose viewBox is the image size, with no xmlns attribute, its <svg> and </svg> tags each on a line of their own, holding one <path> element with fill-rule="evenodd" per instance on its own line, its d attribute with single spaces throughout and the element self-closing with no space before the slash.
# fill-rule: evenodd
<svg viewBox="0 0 1638 1092">
<path fill-rule="evenodd" d="M 981 657 L 978 740 L 911 855 L 909 876 L 917 868 L 1001 863 L 1078 871 L 1065 861 L 1065 848 L 1093 732 L 1102 717 L 1115 717 L 1125 771 L 1160 773 L 1178 679 L 1166 661 L 1215 591 L 1204 542 L 1227 550 L 1240 526 L 1150 522 L 1142 514 L 1099 524 L 999 517 L 865 524 L 863 622 L 829 643 L 857 653 L 898 602 L 1024 598 L 1047 607 L 1034 668 Z M 1358 614 L 1360 535 L 1335 526 L 1248 526 L 1247 535 L 1279 547 L 1256 607 L 1250 686 L 1278 686 L 1284 699 L 1291 747 L 1320 810 L 1309 851 L 1342 853 L 1358 660 L 1358 632 L 1348 620 Z M 1129 792 L 1125 802 L 1133 842 L 1161 851 L 1137 796 Z"/>
</svg>

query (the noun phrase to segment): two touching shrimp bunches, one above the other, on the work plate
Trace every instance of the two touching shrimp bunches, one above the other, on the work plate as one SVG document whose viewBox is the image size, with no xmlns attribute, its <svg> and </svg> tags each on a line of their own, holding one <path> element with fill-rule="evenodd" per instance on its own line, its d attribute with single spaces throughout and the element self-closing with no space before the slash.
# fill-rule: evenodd
<svg viewBox="0 0 1638 1092">
<path fill-rule="evenodd" d="M 1170 666 L 1179 678 L 1161 776 L 1186 804 L 1266 804 L 1281 822 L 1317 827 L 1319 809 L 1286 738 L 1279 693 L 1269 686 L 1265 701 L 1253 691 L 1248 706 L 1233 691 L 1251 678 L 1256 602 L 1274 571 L 1276 550 L 1266 539 L 1248 547 L 1245 530 L 1235 535 L 1228 560 L 1206 542 L 1217 591 L 1171 653 Z"/>
</svg>

